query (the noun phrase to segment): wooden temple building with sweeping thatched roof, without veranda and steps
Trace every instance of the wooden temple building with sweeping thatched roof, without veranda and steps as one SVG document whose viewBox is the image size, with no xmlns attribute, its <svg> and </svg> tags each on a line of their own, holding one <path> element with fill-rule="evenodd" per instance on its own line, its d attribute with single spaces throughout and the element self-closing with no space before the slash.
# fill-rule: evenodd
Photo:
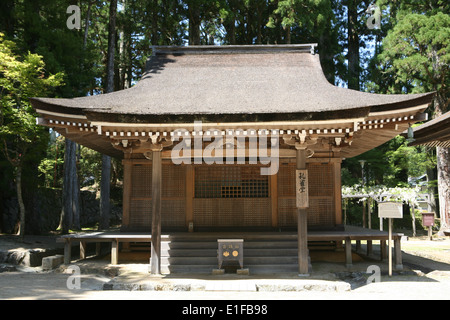
<svg viewBox="0 0 450 320">
<path fill-rule="evenodd" d="M 425 119 L 432 99 L 334 86 L 315 46 L 154 47 L 130 89 L 32 105 L 41 125 L 123 159 L 121 230 L 151 233 L 153 273 L 165 233 L 290 230 L 307 274 L 309 236 L 345 232 L 342 159 Z"/>
</svg>

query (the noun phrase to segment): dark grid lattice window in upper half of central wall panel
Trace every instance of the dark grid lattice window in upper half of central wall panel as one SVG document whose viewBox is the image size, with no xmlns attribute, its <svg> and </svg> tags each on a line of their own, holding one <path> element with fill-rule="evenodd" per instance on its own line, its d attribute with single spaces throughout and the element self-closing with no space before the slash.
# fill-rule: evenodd
<svg viewBox="0 0 450 320">
<path fill-rule="evenodd" d="M 260 167 L 208 166 L 195 169 L 196 198 L 267 198 L 268 176 Z"/>
</svg>

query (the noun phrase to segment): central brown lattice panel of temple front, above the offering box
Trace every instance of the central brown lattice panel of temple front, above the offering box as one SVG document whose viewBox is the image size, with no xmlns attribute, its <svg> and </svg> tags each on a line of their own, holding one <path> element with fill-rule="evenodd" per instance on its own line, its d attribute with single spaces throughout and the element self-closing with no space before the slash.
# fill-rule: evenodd
<svg viewBox="0 0 450 320">
<path fill-rule="evenodd" d="M 255 165 L 196 167 L 194 226 L 270 226 L 269 178 L 260 169 Z"/>
</svg>

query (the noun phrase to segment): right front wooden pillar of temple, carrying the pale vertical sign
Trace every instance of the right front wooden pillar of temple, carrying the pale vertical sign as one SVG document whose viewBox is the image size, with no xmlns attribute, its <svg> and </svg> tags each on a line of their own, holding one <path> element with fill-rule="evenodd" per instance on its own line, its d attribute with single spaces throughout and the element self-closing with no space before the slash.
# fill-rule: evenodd
<svg viewBox="0 0 450 320">
<path fill-rule="evenodd" d="M 298 179 L 298 170 L 306 170 L 306 149 L 297 149 L 297 170 L 296 181 Z M 297 241 L 298 241 L 298 273 L 299 275 L 308 275 L 309 273 L 309 253 L 308 253 L 308 226 L 307 226 L 307 208 L 308 208 L 308 182 L 306 179 L 306 202 L 297 200 Z M 298 186 L 296 186 L 297 197 L 299 197 Z M 302 199 L 304 200 L 304 199 Z"/>
</svg>

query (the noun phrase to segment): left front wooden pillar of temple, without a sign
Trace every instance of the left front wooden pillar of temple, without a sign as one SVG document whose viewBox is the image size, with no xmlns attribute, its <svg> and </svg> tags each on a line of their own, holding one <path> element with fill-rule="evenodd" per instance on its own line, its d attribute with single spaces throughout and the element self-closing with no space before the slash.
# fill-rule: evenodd
<svg viewBox="0 0 450 320">
<path fill-rule="evenodd" d="M 152 150 L 152 248 L 150 273 L 161 274 L 161 150 Z"/>
</svg>

